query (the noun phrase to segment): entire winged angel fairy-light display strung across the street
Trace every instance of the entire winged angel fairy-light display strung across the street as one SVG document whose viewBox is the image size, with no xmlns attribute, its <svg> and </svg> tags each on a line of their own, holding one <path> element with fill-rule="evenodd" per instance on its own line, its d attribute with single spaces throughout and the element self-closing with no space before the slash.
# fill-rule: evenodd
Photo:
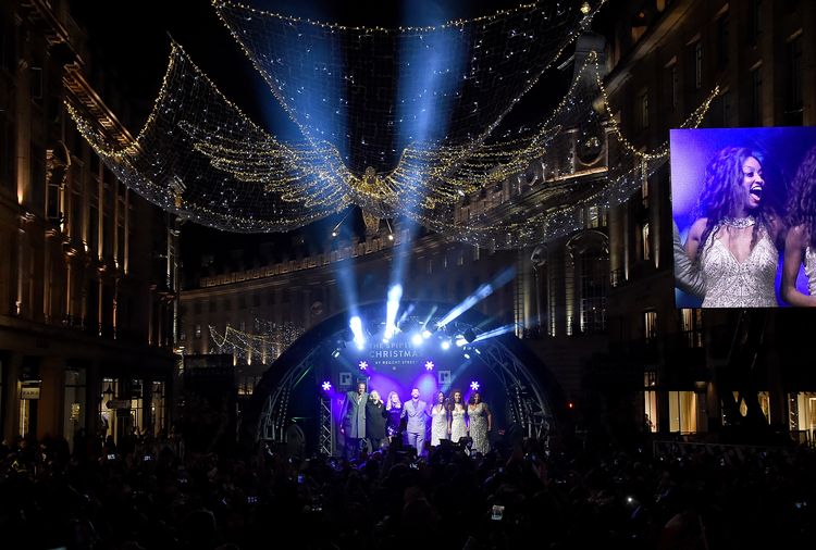
<svg viewBox="0 0 816 550">
<path fill-rule="evenodd" d="M 574 2 L 535 2 L 438 26 L 383 29 L 311 22 L 213 0 L 221 20 L 302 130 L 302 142 L 282 142 L 254 123 L 175 42 L 152 112 L 128 146 L 108 140 L 79 105 L 67 104 L 67 111 L 122 182 L 203 225 L 285 232 L 357 204 L 368 216 L 403 215 L 450 240 L 520 248 L 578 228 L 586 208 L 628 199 L 668 159 L 667 145 L 644 152 L 627 139 L 594 51 L 576 67 L 571 86 L 548 116 L 491 137 L 604 2 L 594 2 L 594 8 L 584 2 L 580 9 Z M 335 59 L 343 48 L 351 50 L 339 55 L 351 59 L 349 67 Z M 388 68 L 393 74 L 405 72 L 409 82 L 421 82 L 432 68 L 437 90 L 458 91 L 438 97 L 425 87 L 404 95 L 401 80 L 383 84 L 374 78 L 374 88 L 379 83 L 384 97 L 398 101 L 384 107 L 370 100 L 364 91 L 369 77 L 355 73 L 354 61 L 373 53 L 372 66 L 384 64 L 379 58 L 393 58 L 395 49 L 401 61 Z M 310 53 L 326 50 L 334 58 Z M 467 50 L 465 65 L 422 63 L 423 57 L 460 50 Z M 349 99 L 326 84 L 337 78 L 343 90 L 362 88 L 363 97 Z M 450 84 L 454 79 L 460 80 L 458 87 Z M 717 93 L 715 89 L 683 127 L 697 126 Z M 408 107 L 400 107 L 406 102 Z M 406 128 L 410 130 L 406 117 L 431 104 L 435 124 L 447 124 L 445 132 L 403 139 Z M 341 121 L 346 118 L 355 130 L 345 133 Z M 594 164 L 609 137 L 631 157 L 631 164 L 613 170 Z M 383 143 L 391 148 L 385 153 L 375 150 Z M 536 185 L 531 185 L 530 166 L 536 166 Z"/>
</svg>

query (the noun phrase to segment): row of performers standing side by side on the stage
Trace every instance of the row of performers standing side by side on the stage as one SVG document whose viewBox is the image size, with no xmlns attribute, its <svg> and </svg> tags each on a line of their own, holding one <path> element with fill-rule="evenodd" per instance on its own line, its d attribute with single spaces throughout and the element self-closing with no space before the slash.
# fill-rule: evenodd
<svg viewBox="0 0 816 550">
<path fill-rule="evenodd" d="M 367 391 L 364 382 L 357 384 L 356 391 L 346 393 L 341 418 L 349 458 L 366 447 L 375 451 L 397 441 L 416 448 L 417 454 L 422 455 L 426 442 L 436 447 L 445 439 L 458 443 L 462 438 L 472 441 L 472 453 L 484 454 L 490 451 L 487 434 L 493 429 L 493 414 L 478 391 L 468 403 L 461 391 L 454 390 L 449 399 L 437 391 L 433 404 L 429 404 L 420 398 L 419 388 L 412 388 L 405 402 L 396 391 L 391 391 L 383 402 L 379 391 Z"/>
</svg>

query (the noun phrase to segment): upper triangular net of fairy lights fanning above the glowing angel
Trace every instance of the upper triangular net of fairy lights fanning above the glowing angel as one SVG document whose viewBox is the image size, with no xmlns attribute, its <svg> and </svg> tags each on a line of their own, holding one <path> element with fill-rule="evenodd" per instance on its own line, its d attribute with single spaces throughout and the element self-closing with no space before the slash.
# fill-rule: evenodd
<svg viewBox="0 0 816 550">
<path fill-rule="evenodd" d="M 344 143 L 342 159 L 359 179 L 369 166 L 391 172 L 409 146 L 444 150 L 442 171 L 467 158 L 605 1 L 537 1 L 397 28 L 313 22 L 228 0 L 212 4 L 304 136 Z M 355 186 L 349 191 L 357 199 Z"/>
</svg>

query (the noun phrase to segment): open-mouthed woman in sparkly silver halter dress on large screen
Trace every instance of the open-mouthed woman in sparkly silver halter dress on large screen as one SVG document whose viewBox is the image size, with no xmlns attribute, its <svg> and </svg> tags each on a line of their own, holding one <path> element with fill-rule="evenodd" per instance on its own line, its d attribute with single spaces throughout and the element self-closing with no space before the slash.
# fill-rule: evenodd
<svg viewBox="0 0 816 550">
<path fill-rule="evenodd" d="M 705 280 L 703 308 L 774 308 L 781 224 L 766 207 L 763 157 L 718 151 L 705 170 L 685 252 Z"/>
</svg>

